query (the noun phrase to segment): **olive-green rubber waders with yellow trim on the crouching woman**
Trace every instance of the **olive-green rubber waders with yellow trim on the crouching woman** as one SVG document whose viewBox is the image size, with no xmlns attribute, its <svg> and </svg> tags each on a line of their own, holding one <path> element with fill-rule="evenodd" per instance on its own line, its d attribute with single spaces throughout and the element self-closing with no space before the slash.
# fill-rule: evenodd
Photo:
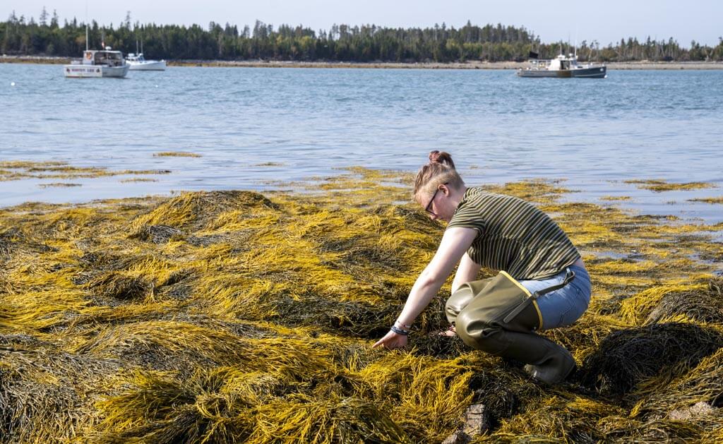
<svg viewBox="0 0 723 444">
<path fill-rule="evenodd" d="M 575 368 L 564 347 L 534 333 L 542 327 L 536 299 L 561 289 L 575 278 L 568 270 L 559 285 L 531 294 L 504 271 L 494 278 L 463 284 L 448 299 L 447 319 L 457 335 L 474 349 L 527 364 L 536 380 L 559 383 Z"/>
</svg>

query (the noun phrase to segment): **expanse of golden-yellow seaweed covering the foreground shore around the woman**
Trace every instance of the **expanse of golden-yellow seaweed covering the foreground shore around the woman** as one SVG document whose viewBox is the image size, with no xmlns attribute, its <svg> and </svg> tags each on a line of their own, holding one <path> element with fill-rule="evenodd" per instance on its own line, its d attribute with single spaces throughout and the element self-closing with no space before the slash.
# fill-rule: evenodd
<svg viewBox="0 0 723 444">
<path fill-rule="evenodd" d="M 0 163 L 105 174 L 68 167 Z M 544 332 L 579 366 L 553 387 L 439 336 L 449 283 L 408 349 L 370 348 L 444 230 L 409 180 L 346 168 L 299 192 L 1 209 L 3 440 L 439 443 L 473 405 L 474 442 L 723 437 L 722 225 L 489 186 L 552 215 L 593 278 L 585 315 Z"/>
</svg>

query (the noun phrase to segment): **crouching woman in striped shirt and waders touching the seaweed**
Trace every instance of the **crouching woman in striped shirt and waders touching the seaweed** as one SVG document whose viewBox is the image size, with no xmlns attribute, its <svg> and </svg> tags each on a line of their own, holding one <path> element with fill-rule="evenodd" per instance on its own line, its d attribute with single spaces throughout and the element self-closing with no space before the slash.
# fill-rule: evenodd
<svg viewBox="0 0 723 444">
<path fill-rule="evenodd" d="M 568 236 L 528 202 L 466 187 L 448 153 L 429 153 L 414 200 L 432 220 L 447 221 L 447 229 L 374 347 L 406 346 L 414 320 L 459 263 L 445 307 L 451 334 L 474 349 L 524 362 L 536 380 L 565 380 L 575 369 L 570 352 L 534 332 L 570 325 L 588 307 L 590 278 Z M 500 273 L 477 281 L 483 266 Z"/>
</svg>

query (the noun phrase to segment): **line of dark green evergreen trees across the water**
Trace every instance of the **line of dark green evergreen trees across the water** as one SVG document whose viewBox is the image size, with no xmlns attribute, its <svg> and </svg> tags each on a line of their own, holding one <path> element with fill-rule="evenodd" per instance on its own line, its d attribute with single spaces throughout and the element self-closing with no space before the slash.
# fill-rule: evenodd
<svg viewBox="0 0 723 444">
<path fill-rule="evenodd" d="M 393 28 L 376 25 L 333 25 L 329 30 L 265 24 L 253 28 L 210 22 L 200 25 L 132 23 L 130 12 L 114 25 L 88 24 L 90 48 L 101 43 L 124 53 L 135 52 L 141 42 L 145 54 L 168 60 L 279 60 L 279 61 L 523 61 L 534 51 L 549 59 L 572 48 L 562 42 L 542 43 L 525 27 L 467 22 L 463 27 Z M 78 57 L 85 49 L 85 23 L 64 20 L 45 8 L 39 20 L 12 12 L 0 22 L 0 53 L 28 56 Z M 692 41 L 681 46 L 673 38 L 639 41 L 624 38 L 608 46 L 583 41 L 578 58 L 596 61 L 723 61 L 723 38 L 717 46 Z"/>
</svg>

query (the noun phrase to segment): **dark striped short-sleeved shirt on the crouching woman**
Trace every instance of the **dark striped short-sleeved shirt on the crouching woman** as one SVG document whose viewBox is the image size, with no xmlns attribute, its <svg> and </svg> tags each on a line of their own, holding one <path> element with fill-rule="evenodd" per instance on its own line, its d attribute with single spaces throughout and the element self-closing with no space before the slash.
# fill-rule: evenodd
<svg viewBox="0 0 723 444">
<path fill-rule="evenodd" d="M 518 197 L 471 187 L 447 228 L 476 229 L 479 234 L 467 254 L 493 270 L 505 270 L 517 280 L 555 276 L 580 257 L 555 221 Z"/>
</svg>

